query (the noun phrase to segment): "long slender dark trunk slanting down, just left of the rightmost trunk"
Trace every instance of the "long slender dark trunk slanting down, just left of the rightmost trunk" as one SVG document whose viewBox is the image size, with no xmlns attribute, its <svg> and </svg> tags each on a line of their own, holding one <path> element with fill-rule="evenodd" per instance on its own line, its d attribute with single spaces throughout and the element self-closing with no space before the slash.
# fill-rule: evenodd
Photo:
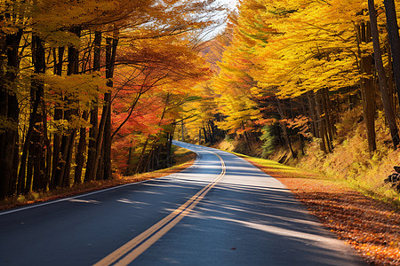
<svg viewBox="0 0 400 266">
<path fill-rule="evenodd" d="M 386 120 L 388 121 L 388 127 L 393 140 L 393 145 L 396 149 L 400 141 L 396 125 L 395 113 L 393 112 L 393 107 L 391 105 L 390 97 L 388 95 L 388 82 L 386 79 L 385 68 L 383 67 L 383 62 L 382 62 L 382 53 L 380 51 L 380 39 L 378 33 L 378 22 L 376 18 L 376 10 L 373 0 L 368 0 L 368 10 L 370 12 L 370 20 L 371 20 L 371 34 L 372 34 L 375 67 L 378 72 L 378 78 L 380 83 L 380 96 L 382 98 L 383 109 L 385 110 L 385 116 Z"/>
</svg>

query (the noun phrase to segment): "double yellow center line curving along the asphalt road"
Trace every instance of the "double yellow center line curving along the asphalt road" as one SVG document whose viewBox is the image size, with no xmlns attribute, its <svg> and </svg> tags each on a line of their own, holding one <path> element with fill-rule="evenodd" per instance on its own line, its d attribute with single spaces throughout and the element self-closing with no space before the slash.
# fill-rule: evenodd
<svg viewBox="0 0 400 266">
<path fill-rule="evenodd" d="M 220 155 L 217 153 L 213 153 L 220 158 Z M 197 192 L 195 196 L 190 198 L 180 207 L 175 209 L 170 215 L 167 215 L 154 224 L 148 230 L 142 232 L 136 238 L 130 240 L 124 246 L 119 247 L 111 254 L 108 254 L 107 257 L 103 258 L 100 262 L 94 264 L 94 266 L 104 266 L 104 265 L 128 265 L 133 262 L 140 254 L 145 252 L 148 247 L 153 245 L 156 240 L 160 239 L 164 236 L 165 233 L 170 231 L 172 227 L 179 223 L 180 220 L 194 208 L 200 200 L 203 200 L 204 196 L 212 189 L 212 187 L 217 184 L 220 179 L 225 176 L 226 167 L 225 162 L 220 158 L 220 164 L 222 167 L 222 171 L 220 176 L 218 176 L 212 183 L 207 184 L 200 192 Z"/>
</svg>

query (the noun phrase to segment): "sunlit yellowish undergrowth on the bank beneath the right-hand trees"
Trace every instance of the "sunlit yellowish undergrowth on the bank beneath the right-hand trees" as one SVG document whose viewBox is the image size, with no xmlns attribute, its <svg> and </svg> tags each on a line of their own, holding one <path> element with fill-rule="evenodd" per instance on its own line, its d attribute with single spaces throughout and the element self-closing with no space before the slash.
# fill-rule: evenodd
<svg viewBox="0 0 400 266">
<path fill-rule="evenodd" d="M 308 145 L 307 153 L 292 165 L 300 168 L 314 168 L 325 176 L 345 181 L 350 187 L 375 199 L 396 204 L 400 207 L 400 194 L 383 180 L 400 165 L 400 152 L 390 146 L 390 133 L 382 113 L 376 120 L 377 150 L 368 150 L 364 122 L 360 122 L 361 112 L 354 109 L 344 113 L 342 121 L 336 125 L 337 137 L 332 153 L 324 154 L 319 149 L 318 140 Z"/>
</svg>

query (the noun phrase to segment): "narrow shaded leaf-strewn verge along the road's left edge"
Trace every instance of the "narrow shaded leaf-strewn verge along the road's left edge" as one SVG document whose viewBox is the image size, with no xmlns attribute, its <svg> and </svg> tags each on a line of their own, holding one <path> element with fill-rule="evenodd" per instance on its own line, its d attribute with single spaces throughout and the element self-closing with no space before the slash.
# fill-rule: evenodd
<svg viewBox="0 0 400 266">
<path fill-rule="evenodd" d="M 47 200 L 58 200 L 87 192 L 100 191 L 121 184 L 136 183 L 157 177 L 168 176 L 191 166 L 196 160 L 196 153 L 191 153 L 186 149 L 180 148 L 175 153 L 174 159 L 175 166 L 172 168 L 164 168 L 153 172 L 136 174 L 133 176 L 120 176 L 114 174 L 114 179 L 112 180 L 86 182 L 84 184 L 76 184 L 70 188 L 58 188 L 57 190 L 50 192 L 30 192 L 27 195 L 0 200 L 0 210 L 9 209 L 12 207 L 20 207 L 37 202 L 44 202 Z"/>
</svg>

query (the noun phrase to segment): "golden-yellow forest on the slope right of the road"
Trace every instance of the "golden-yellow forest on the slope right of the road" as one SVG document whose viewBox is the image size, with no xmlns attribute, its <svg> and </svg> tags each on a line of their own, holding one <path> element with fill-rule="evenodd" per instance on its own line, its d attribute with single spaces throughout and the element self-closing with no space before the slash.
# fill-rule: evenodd
<svg viewBox="0 0 400 266">
<path fill-rule="evenodd" d="M 400 162 L 398 8 L 240 1 L 207 53 L 216 74 L 203 85 L 213 100 L 201 108 L 213 111 L 188 132 L 208 122 L 222 132 L 223 149 L 314 169 L 398 202 L 399 181 L 384 181 Z M 219 141 L 206 131 L 195 139 Z"/>
</svg>

